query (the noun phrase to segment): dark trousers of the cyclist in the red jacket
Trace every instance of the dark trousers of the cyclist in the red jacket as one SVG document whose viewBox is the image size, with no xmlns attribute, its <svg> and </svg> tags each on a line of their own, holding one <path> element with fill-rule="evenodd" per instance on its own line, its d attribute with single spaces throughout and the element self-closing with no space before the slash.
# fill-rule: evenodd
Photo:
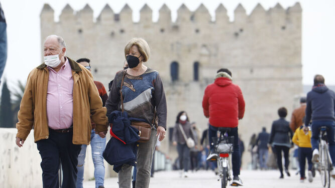
<svg viewBox="0 0 335 188">
<path fill-rule="evenodd" d="M 210 150 L 214 150 L 213 144 L 213 137 L 217 138 L 217 127 L 209 125 L 208 128 L 208 138 L 210 142 Z M 239 132 L 238 128 L 232 128 L 232 130 L 228 133 L 228 136 L 234 136 L 234 151 L 232 157 L 232 164 L 233 164 L 233 175 L 239 176 L 240 175 L 240 164 L 241 164 L 241 152 L 240 152 L 240 145 L 239 145 Z"/>
</svg>

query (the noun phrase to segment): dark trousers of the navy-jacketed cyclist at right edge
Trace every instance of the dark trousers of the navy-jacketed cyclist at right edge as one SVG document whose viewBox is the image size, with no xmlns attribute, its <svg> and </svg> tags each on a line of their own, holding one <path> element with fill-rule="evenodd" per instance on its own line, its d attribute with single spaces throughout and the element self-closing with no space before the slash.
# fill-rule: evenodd
<svg viewBox="0 0 335 188">
<path fill-rule="evenodd" d="M 318 130 L 321 126 L 328 127 L 327 137 L 329 144 L 329 153 L 332 161 L 332 165 L 335 166 L 335 141 L 334 141 L 334 130 L 335 130 L 335 122 L 334 121 L 312 121 L 312 137 L 310 138 L 310 142 L 312 144 L 312 149 L 319 148 L 319 134 Z"/>
</svg>

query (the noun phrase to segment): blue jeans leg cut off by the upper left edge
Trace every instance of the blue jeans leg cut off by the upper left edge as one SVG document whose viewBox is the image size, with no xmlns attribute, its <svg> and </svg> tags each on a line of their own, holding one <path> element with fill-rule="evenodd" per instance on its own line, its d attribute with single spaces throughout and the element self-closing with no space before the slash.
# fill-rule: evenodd
<svg viewBox="0 0 335 188">
<path fill-rule="evenodd" d="M 0 22 L 0 78 L 3 76 L 3 72 L 7 60 L 7 24 Z"/>
</svg>

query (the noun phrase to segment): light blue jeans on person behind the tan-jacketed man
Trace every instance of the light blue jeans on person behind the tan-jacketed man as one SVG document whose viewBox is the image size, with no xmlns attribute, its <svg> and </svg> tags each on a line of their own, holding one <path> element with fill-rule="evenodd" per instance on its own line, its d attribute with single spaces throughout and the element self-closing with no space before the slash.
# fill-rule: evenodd
<svg viewBox="0 0 335 188">
<path fill-rule="evenodd" d="M 95 130 L 91 132 L 91 148 L 92 148 L 92 159 L 94 163 L 94 178 L 95 187 L 103 186 L 104 181 L 104 165 L 102 152 L 106 147 L 106 137 L 101 138 L 98 134 L 95 134 Z M 84 180 L 84 163 L 86 156 L 87 145 L 81 145 L 81 151 L 78 155 L 78 175 L 77 175 L 77 188 L 82 188 L 82 182 Z"/>
</svg>

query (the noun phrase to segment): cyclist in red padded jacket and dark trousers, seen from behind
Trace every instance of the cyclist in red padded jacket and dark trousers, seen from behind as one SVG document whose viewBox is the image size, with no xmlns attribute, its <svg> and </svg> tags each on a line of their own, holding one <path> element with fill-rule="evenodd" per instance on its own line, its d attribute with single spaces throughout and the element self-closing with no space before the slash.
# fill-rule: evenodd
<svg viewBox="0 0 335 188">
<path fill-rule="evenodd" d="M 241 154 L 239 148 L 238 124 L 244 116 L 245 102 L 240 87 L 232 82 L 232 72 L 219 69 L 215 81 L 206 87 L 202 108 L 204 115 L 209 117 L 208 137 L 210 153 L 207 160 L 217 159 L 212 137 L 217 137 L 218 127 L 231 127 L 229 136 L 234 136 L 233 184 L 243 185 L 240 175 Z"/>
</svg>

